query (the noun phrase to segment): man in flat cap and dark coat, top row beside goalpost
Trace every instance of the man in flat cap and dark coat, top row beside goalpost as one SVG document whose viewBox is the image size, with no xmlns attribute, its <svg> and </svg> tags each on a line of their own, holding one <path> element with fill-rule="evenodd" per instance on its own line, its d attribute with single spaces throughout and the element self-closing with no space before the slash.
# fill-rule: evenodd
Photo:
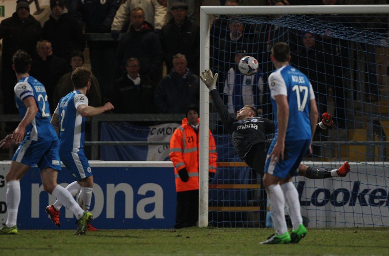
<svg viewBox="0 0 389 256">
<path fill-rule="evenodd" d="M 188 4 L 176 2 L 171 5 L 172 17 L 162 27 L 160 34 L 163 60 L 167 72 L 173 68 L 173 56 L 182 53 L 188 61 L 193 74 L 200 72 L 200 27 L 186 16 Z"/>
</svg>

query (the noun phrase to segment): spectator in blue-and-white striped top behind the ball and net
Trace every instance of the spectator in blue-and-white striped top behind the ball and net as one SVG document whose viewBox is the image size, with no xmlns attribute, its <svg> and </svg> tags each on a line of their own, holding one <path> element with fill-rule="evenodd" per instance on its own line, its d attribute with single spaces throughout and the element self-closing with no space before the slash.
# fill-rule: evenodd
<svg viewBox="0 0 389 256">
<path fill-rule="evenodd" d="M 237 67 L 240 60 L 247 56 L 246 50 L 237 50 L 235 54 L 235 65 L 233 65 L 224 82 L 224 103 L 227 105 L 230 113 L 236 113 L 244 108 L 245 105 L 251 105 L 262 113 L 262 94 L 264 91 L 264 80 L 262 78 L 262 71 L 258 71 L 247 76 L 242 74 Z"/>
</svg>

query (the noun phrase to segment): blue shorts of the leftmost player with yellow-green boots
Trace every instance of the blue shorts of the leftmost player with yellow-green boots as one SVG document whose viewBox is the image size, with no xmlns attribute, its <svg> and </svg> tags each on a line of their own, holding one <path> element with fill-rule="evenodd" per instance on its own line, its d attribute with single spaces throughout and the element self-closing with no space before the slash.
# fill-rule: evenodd
<svg viewBox="0 0 389 256">
<path fill-rule="evenodd" d="M 28 166 L 38 166 L 40 170 L 53 168 L 61 170 L 59 160 L 59 142 L 24 140 L 18 146 L 12 160 Z"/>
</svg>

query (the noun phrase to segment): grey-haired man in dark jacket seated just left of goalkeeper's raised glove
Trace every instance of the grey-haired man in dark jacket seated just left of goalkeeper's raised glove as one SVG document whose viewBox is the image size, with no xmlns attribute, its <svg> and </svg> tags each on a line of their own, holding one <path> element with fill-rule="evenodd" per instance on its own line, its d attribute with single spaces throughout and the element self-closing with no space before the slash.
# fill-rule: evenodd
<svg viewBox="0 0 389 256">
<path fill-rule="evenodd" d="M 185 55 L 173 56 L 173 67 L 154 93 L 154 103 L 160 113 L 184 113 L 188 102 L 199 104 L 200 101 L 200 79 L 187 68 Z"/>
</svg>

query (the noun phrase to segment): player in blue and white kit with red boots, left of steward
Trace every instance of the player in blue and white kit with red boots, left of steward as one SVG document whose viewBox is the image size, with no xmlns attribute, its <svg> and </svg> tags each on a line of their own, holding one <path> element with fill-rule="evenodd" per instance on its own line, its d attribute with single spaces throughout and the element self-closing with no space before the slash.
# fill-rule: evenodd
<svg viewBox="0 0 389 256">
<path fill-rule="evenodd" d="M 84 68 L 76 68 L 71 76 L 74 91 L 59 100 L 54 111 L 51 123 L 59 135 L 59 156 L 62 163 L 70 170 L 76 181 L 69 184 L 66 189 L 72 196 L 78 196 L 79 205 L 88 211 L 92 200 L 93 175 L 88 159 L 84 152 L 85 117 L 97 116 L 105 111 L 114 109 L 107 102 L 97 108 L 88 105 L 88 94 L 91 88 L 92 73 Z M 60 226 L 59 209 L 62 204 L 56 201 L 46 207 L 46 212 L 56 226 Z M 97 231 L 89 224 L 89 231 Z"/>
</svg>

